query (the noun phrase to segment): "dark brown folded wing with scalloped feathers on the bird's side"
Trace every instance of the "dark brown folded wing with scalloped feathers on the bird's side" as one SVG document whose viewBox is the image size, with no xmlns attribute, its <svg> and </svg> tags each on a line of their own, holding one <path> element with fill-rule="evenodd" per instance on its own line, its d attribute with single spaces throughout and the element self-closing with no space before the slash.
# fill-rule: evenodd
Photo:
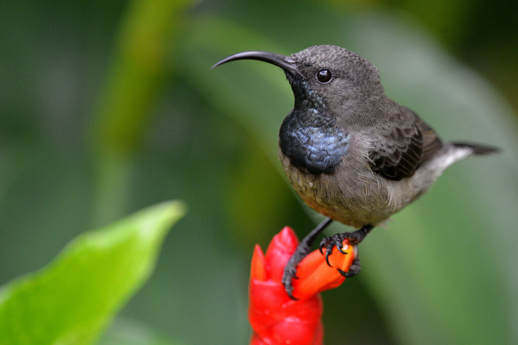
<svg viewBox="0 0 518 345">
<path fill-rule="evenodd" d="M 369 150 L 370 167 L 390 180 L 410 177 L 442 143 L 435 132 L 415 113 L 404 108 L 389 123 L 396 124 L 373 136 Z"/>
</svg>

